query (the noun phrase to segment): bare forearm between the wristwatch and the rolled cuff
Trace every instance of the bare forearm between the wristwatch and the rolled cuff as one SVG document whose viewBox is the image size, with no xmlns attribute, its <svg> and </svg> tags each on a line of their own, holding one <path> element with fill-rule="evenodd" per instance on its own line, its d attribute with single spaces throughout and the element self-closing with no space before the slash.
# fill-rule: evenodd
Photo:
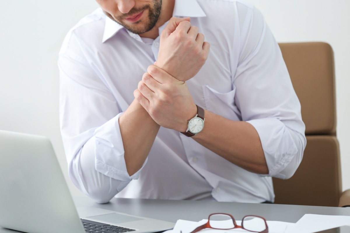
<svg viewBox="0 0 350 233">
<path fill-rule="evenodd" d="M 239 167 L 268 174 L 259 134 L 247 122 L 231 121 L 205 110 L 205 127 L 193 139 Z"/>
</svg>

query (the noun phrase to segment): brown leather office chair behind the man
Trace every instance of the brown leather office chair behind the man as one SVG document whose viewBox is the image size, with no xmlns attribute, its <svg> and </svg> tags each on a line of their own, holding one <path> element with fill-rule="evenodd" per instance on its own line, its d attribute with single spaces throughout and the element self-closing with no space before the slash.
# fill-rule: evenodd
<svg viewBox="0 0 350 233">
<path fill-rule="evenodd" d="M 280 48 L 301 103 L 307 145 L 292 178 L 273 178 L 275 203 L 350 206 L 350 190 L 342 193 L 332 48 L 319 42 Z"/>
</svg>

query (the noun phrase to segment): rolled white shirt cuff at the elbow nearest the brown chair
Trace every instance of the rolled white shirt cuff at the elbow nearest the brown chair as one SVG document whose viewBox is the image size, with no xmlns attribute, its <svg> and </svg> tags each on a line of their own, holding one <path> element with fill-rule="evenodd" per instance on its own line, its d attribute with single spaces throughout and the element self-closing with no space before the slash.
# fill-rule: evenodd
<svg viewBox="0 0 350 233">
<path fill-rule="evenodd" d="M 280 120 L 273 117 L 247 122 L 252 124 L 259 134 L 269 170 L 268 176 L 286 179 L 282 171 L 298 153 L 294 137 L 291 135 L 293 132 Z"/>
</svg>

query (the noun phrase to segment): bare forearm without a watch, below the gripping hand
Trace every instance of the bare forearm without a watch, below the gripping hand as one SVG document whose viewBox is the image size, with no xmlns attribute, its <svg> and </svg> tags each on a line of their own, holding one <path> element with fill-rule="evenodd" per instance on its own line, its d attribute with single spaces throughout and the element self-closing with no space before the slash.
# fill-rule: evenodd
<svg viewBox="0 0 350 233">
<path fill-rule="evenodd" d="M 160 126 L 135 99 L 119 118 L 127 172 L 133 175 L 144 164 Z"/>
</svg>

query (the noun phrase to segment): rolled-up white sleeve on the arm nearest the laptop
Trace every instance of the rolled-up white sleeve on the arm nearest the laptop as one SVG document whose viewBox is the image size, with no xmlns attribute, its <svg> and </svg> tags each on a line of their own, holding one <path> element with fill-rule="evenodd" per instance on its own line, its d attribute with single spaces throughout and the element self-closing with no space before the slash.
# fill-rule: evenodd
<svg viewBox="0 0 350 233">
<path fill-rule="evenodd" d="M 68 173 L 80 191 L 106 203 L 138 179 L 140 171 L 129 176 L 126 170 L 118 123 L 123 112 L 117 101 L 79 54 L 74 38 L 66 40 L 68 46 L 61 49 L 58 67 L 60 126 Z"/>
</svg>

